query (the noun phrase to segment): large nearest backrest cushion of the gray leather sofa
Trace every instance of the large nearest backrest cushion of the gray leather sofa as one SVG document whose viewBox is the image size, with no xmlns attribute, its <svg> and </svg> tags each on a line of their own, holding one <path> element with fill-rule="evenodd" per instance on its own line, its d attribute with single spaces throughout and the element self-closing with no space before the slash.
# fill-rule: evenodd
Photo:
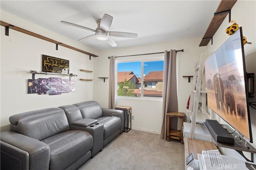
<svg viewBox="0 0 256 170">
<path fill-rule="evenodd" d="M 63 109 L 47 108 L 12 115 L 11 130 L 37 139 L 46 139 L 58 133 L 70 130 L 68 119 Z"/>
</svg>

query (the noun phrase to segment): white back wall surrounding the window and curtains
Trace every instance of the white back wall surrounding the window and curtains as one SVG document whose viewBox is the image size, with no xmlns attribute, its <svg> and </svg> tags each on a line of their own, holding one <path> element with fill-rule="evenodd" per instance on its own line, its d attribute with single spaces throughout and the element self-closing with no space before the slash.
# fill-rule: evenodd
<svg viewBox="0 0 256 170">
<path fill-rule="evenodd" d="M 198 37 L 166 43 L 99 51 L 100 57 L 96 58 L 94 63 L 94 80 L 98 77 L 109 76 L 110 60 L 108 56 L 136 55 L 164 52 L 164 50 L 170 51 L 170 49 L 184 49 L 184 53 L 177 53 L 177 87 L 178 111 L 185 112 L 192 90 L 192 81 L 188 83 L 188 78 L 182 78 L 182 76 L 193 76 L 194 65 L 199 61 L 201 52 L 205 51 L 205 47 L 199 47 L 200 41 L 201 37 Z M 108 84 L 108 79 L 106 79 L 106 82 L 99 79 L 94 88 L 94 100 L 99 102 L 103 107 L 108 107 Z M 160 133 L 162 125 L 162 101 L 118 99 L 117 105 L 132 107 L 132 115 L 134 116 L 134 120 L 132 120 L 133 129 Z"/>
</svg>

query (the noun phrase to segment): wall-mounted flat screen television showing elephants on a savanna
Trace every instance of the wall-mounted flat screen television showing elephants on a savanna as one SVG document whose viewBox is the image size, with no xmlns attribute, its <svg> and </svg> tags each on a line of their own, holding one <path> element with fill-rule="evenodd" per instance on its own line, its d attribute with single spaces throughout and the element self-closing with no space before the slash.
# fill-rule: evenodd
<svg viewBox="0 0 256 170">
<path fill-rule="evenodd" d="M 208 107 L 252 143 L 242 27 L 204 66 Z"/>
</svg>

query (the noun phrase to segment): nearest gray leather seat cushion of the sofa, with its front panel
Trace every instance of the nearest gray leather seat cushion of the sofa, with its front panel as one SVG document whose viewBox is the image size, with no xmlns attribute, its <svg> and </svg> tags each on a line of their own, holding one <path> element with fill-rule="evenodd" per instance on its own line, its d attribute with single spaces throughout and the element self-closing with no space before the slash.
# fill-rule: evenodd
<svg viewBox="0 0 256 170">
<path fill-rule="evenodd" d="M 42 140 L 50 147 L 50 169 L 62 170 L 92 149 L 92 135 L 86 131 L 66 131 Z"/>
</svg>

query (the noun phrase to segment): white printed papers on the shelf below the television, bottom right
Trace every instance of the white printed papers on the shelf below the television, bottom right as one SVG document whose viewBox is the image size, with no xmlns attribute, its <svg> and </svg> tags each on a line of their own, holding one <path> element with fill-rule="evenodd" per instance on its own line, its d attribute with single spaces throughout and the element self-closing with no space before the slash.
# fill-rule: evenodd
<svg viewBox="0 0 256 170">
<path fill-rule="evenodd" d="M 256 170 L 255 163 L 221 155 L 218 150 L 203 150 L 198 161 L 203 170 Z"/>
</svg>

